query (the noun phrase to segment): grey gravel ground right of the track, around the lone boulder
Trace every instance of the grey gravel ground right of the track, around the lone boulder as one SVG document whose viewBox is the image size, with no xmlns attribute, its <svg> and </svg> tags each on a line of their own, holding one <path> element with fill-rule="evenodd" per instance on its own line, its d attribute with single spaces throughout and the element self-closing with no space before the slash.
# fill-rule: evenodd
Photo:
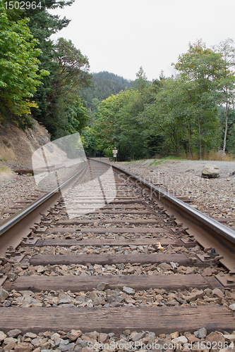
<svg viewBox="0 0 235 352">
<path fill-rule="evenodd" d="M 201 177 L 206 164 L 217 165 L 219 177 Z M 235 218 L 235 163 L 230 161 L 134 161 L 115 163 L 173 196 L 192 199 L 193 208 L 207 210 L 212 218 Z M 234 226 L 235 222 L 227 224 Z"/>
</svg>

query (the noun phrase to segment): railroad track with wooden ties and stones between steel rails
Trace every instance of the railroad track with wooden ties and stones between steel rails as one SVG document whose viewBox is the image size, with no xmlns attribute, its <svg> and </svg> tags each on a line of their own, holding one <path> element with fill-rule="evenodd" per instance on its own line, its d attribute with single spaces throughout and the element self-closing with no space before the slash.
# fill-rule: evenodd
<svg viewBox="0 0 235 352">
<path fill-rule="evenodd" d="M 140 342 L 173 351 L 176 341 L 231 350 L 234 232 L 105 163 L 90 159 L 79 177 L 69 196 L 54 192 L 30 220 L 13 215 L 15 227 L 1 230 L 3 351 Z"/>
</svg>

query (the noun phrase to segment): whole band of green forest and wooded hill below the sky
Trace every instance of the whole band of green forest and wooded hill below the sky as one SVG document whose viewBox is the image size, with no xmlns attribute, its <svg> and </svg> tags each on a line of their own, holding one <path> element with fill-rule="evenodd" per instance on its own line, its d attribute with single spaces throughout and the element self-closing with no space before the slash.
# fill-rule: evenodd
<svg viewBox="0 0 235 352">
<path fill-rule="evenodd" d="M 80 132 L 88 156 L 207 158 L 235 155 L 235 49 L 200 39 L 172 63 L 176 75 L 152 82 L 142 67 L 135 81 L 90 73 L 88 57 L 64 38 L 50 37 L 69 20 L 52 8 L 73 0 L 42 0 L 20 9 L 0 0 L 0 122 L 21 129 L 41 122 L 53 139 Z M 11 6 L 10 6 L 11 4 Z"/>
</svg>

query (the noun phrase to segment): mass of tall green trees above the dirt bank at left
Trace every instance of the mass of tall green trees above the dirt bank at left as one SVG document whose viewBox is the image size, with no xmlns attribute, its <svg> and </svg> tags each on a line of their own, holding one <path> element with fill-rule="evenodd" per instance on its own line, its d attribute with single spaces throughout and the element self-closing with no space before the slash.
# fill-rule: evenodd
<svg viewBox="0 0 235 352">
<path fill-rule="evenodd" d="M 0 0 L 0 115 L 11 122 L 28 123 L 31 111 L 52 138 L 81 132 L 88 114 L 78 88 L 87 87 L 91 75 L 88 58 L 71 41 L 49 37 L 70 20 L 52 15 L 73 0 L 41 0 L 42 8 L 5 11 Z M 38 58 L 37 58 L 38 57 Z M 35 100 L 31 100 L 35 99 Z M 22 124 L 21 124 L 22 125 Z"/>
</svg>

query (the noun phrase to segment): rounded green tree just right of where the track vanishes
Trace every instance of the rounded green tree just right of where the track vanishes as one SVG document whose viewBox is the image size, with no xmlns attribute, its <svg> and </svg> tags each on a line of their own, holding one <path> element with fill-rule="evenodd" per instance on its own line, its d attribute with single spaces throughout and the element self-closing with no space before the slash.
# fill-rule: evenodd
<svg viewBox="0 0 235 352">
<path fill-rule="evenodd" d="M 116 146 L 119 160 L 145 156 L 143 126 L 135 119 L 143 108 L 141 94 L 135 89 L 126 89 L 116 96 L 112 94 L 102 101 L 95 122 L 100 149 L 107 151 Z"/>
</svg>

